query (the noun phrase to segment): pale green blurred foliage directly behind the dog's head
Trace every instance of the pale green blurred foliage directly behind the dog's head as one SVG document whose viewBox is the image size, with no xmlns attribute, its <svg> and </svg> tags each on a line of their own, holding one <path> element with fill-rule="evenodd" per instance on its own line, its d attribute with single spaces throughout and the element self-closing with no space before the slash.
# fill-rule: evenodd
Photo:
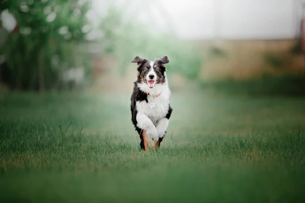
<svg viewBox="0 0 305 203">
<path fill-rule="evenodd" d="M 136 55 L 149 60 L 167 55 L 169 74 L 179 73 L 189 79 L 198 79 L 202 64 L 198 48 L 174 35 L 160 34 L 148 25 L 129 20 L 123 14 L 123 10 L 112 7 L 100 24 L 104 53 L 116 57 L 121 74 L 126 72 L 126 64 Z"/>
</svg>

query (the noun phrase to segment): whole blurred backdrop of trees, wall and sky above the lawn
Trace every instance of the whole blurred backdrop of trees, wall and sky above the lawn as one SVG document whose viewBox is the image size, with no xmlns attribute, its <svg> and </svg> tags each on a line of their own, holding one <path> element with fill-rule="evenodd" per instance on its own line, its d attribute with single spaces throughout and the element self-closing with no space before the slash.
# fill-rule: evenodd
<svg viewBox="0 0 305 203">
<path fill-rule="evenodd" d="M 304 11 L 301 0 L 3 0 L 0 90 L 131 92 L 130 61 L 168 55 L 172 91 L 302 95 Z"/>
</svg>

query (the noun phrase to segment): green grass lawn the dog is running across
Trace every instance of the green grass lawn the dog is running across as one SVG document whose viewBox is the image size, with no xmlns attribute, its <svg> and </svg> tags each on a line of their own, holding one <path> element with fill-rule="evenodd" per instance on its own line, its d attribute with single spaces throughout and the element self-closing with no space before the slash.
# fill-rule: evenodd
<svg viewBox="0 0 305 203">
<path fill-rule="evenodd" d="M 3 94 L 0 201 L 305 201 L 305 98 L 172 93 L 147 152 L 129 98 Z"/>
</svg>

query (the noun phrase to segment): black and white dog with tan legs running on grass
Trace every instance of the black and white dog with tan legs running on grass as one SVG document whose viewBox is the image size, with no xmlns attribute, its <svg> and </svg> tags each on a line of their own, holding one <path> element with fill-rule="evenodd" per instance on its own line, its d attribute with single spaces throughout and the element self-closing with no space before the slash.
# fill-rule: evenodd
<svg viewBox="0 0 305 203">
<path fill-rule="evenodd" d="M 169 59 L 163 56 L 149 61 L 136 56 L 131 62 L 138 63 L 138 77 L 131 96 L 132 122 L 139 133 L 141 149 L 148 149 L 146 135 L 153 139 L 153 149 L 156 149 L 165 136 L 172 113 L 164 66 Z"/>
</svg>

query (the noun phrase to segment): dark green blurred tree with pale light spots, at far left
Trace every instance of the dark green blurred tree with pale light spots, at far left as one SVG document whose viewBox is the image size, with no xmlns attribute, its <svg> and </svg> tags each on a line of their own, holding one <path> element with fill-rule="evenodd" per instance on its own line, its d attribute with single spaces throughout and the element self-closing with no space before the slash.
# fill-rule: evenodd
<svg viewBox="0 0 305 203">
<path fill-rule="evenodd" d="M 11 13 L 17 29 L 0 50 L 16 89 L 43 92 L 59 81 L 65 68 L 80 65 L 78 44 L 89 32 L 88 0 L 3 0 L 0 14 Z M 3 23 L 0 23 L 3 24 Z"/>
</svg>

